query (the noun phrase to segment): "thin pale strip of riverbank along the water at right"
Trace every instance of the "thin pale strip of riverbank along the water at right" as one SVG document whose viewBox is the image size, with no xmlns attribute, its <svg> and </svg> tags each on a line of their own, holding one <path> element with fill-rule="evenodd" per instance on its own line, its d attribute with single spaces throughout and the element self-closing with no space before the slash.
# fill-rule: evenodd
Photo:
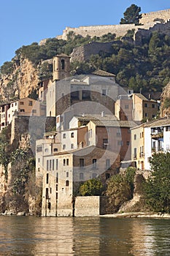
<svg viewBox="0 0 170 256">
<path fill-rule="evenodd" d="M 126 212 L 126 213 L 117 213 L 117 214 L 104 214 L 100 217 L 105 218 L 169 218 L 170 214 L 155 214 L 150 212 Z"/>
</svg>

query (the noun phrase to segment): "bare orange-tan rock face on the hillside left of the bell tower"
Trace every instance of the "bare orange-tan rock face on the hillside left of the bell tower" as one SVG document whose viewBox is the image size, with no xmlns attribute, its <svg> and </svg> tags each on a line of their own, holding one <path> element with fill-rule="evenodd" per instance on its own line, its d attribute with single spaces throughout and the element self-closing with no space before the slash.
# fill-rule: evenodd
<svg viewBox="0 0 170 256">
<path fill-rule="evenodd" d="M 1 74 L 1 102 L 12 102 L 15 99 L 28 97 L 36 89 L 38 73 L 28 59 L 12 60 L 13 72 L 10 75 Z"/>
</svg>

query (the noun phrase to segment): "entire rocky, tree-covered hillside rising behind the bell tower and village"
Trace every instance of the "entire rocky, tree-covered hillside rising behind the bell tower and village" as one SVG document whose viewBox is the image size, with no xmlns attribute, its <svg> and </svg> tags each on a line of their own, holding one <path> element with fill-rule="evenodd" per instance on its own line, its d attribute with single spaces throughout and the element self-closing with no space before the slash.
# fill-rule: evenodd
<svg viewBox="0 0 170 256">
<path fill-rule="evenodd" d="M 119 38 L 110 32 L 101 37 L 96 34 L 82 37 L 73 29 L 66 34 L 66 39 L 50 38 L 19 48 L 12 61 L 1 66 L 0 103 L 27 97 L 39 80 L 52 78 L 52 59 L 60 53 L 72 56 L 71 75 L 103 69 L 114 73 L 120 86 L 128 86 L 136 92 L 161 92 L 170 80 L 167 13 L 169 10 L 145 15 L 144 24 L 152 23 L 152 28 L 138 28 L 135 37 L 135 29 L 129 30 L 133 24 L 128 24 L 126 33 Z M 154 25 L 158 20 L 160 23 Z"/>
</svg>

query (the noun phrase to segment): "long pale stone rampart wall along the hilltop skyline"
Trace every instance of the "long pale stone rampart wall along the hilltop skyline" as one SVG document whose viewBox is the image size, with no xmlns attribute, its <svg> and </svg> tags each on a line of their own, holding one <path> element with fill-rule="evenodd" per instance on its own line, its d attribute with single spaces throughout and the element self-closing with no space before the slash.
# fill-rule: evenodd
<svg viewBox="0 0 170 256">
<path fill-rule="evenodd" d="M 170 19 L 170 9 L 162 10 L 158 12 L 142 13 L 142 19 L 140 23 L 142 26 L 135 26 L 134 24 L 121 24 L 121 25 L 103 25 L 103 26 L 80 26 L 78 28 L 66 27 L 63 30 L 63 35 L 58 36 L 58 39 L 67 39 L 67 34 L 70 31 L 74 31 L 75 34 L 80 34 L 82 37 L 89 35 L 90 37 L 101 37 L 104 34 L 112 33 L 116 34 L 116 37 L 123 37 L 128 30 L 135 29 L 150 29 L 159 20 L 164 22 Z"/>
</svg>

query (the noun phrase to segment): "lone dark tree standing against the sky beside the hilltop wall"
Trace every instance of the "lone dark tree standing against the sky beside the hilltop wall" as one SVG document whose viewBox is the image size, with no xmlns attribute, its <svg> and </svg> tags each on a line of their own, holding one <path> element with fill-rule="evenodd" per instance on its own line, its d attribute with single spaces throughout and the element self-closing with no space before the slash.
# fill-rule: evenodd
<svg viewBox="0 0 170 256">
<path fill-rule="evenodd" d="M 141 12 L 141 7 L 131 4 L 123 13 L 124 18 L 121 18 L 120 24 L 134 23 L 135 25 L 139 25 L 139 19 L 142 18 L 142 14 L 139 14 L 139 12 Z"/>
</svg>

